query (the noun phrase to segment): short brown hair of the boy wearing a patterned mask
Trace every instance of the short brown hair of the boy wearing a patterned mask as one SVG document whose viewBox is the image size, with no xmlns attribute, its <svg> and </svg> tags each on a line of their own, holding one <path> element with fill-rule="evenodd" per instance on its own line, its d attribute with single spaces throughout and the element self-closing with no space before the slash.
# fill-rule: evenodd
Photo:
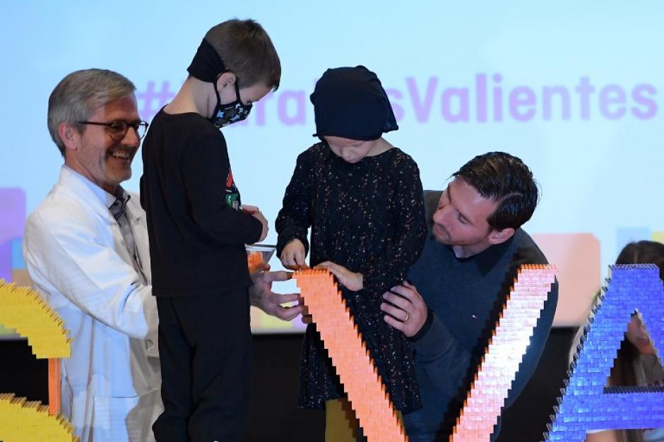
<svg viewBox="0 0 664 442">
<path fill-rule="evenodd" d="M 205 39 L 235 73 L 240 88 L 262 83 L 277 90 L 281 62 L 270 36 L 255 20 L 227 20 L 208 30 Z"/>
</svg>

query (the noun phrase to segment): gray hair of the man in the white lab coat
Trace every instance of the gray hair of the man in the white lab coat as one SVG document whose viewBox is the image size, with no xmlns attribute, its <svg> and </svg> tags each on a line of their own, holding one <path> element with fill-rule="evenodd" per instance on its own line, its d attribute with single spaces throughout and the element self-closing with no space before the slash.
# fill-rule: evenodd
<svg viewBox="0 0 664 442">
<path fill-rule="evenodd" d="M 49 97 L 48 126 L 51 138 L 64 157 L 65 147 L 58 134 L 62 123 L 81 131 L 78 121 L 85 121 L 104 104 L 133 94 L 136 86 L 117 72 L 106 69 L 74 71 L 63 78 Z"/>
</svg>

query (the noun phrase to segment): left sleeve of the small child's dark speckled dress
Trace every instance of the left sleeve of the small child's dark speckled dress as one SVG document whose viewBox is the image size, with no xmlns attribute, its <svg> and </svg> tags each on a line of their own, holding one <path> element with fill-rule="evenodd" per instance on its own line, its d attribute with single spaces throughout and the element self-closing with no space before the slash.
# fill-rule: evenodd
<svg viewBox="0 0 664 442">
<path fill-rule="evenodd" d="M 281 256 L 284 247 L 292 239 L 300 239 L 305 253 L 309 253 L 307 231 L 312 225 L 312 167 L 311 149 L 297 156 L 295 171 L 286 187 L 283 205 L 275 221 L 278 234 L 277 256 Z"/>
</svg>

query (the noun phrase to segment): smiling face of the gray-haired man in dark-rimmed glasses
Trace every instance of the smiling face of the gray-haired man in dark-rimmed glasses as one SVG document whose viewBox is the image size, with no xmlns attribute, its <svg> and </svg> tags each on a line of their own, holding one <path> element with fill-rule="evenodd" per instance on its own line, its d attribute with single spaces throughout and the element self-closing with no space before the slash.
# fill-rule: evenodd
<svg viewBox="0 0 664 442">
<path fill-rule="evenodd" d="M 100 123 L 116 120 L 128 123 L 140 120 L 133 94 L 97 107 L 88 118 Z M 106 126 L 86 124 L 81 131 L 68 124 L 61 126 L 64 126 L 60 131 L 66 145 L 66 165 L 109 193 L 131 178 L 131 161 L 140 144 L 134 129 L 130 127 L 124 138 L 114 141 Z"/>
</svg>

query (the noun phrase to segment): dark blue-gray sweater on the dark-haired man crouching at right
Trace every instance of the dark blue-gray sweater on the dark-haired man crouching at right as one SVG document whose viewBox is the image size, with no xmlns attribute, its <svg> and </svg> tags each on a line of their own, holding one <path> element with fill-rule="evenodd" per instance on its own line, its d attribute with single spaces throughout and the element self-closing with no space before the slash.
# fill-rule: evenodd
<svg viewBox="0 0 664 442">
<path fill-rule="evenodd" d="M 456 258 L 450 246 L 440 244 L 431 234 L 432 215 L 440 196 L 439 191 L 425 192 L 429 234 L 422 256 L 409 273 L 429 306 L 429 318 L 412 342 L 423 405 L 404 416 L 412 442 L 447 441 L 516 270 L 522 264 L 547 263 L 522 229 L 478 255 Z M 537 366 L 557 300 L 556 282 L 509 392 L 508 407 Z"/>
</svg>

